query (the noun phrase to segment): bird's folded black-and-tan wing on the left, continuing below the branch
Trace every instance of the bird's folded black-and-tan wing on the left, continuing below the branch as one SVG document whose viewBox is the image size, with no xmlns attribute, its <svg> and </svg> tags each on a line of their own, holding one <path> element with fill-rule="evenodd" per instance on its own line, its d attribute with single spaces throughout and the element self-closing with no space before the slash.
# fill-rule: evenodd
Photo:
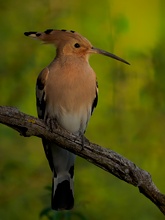
<svg viewBox="0 0 165 220">
<path fill-rule="evenodd" d="M 46 86 L 46 81 L 49 75 L 49 69 L 46 67 L 41 71 L 37 78 L 37 83 L 36 83 L 36 104 L 37 104 L 37 113 L 38 117 L 40 119 L 45 118 L 45 109 L 46 109 L 46 94 L 45 94 L 45 86 Z M 52 152 L 49 147 L 49 141 L 46 139 L 42 139 L 42 143 L 44 146 L 44 151 L 46 154 L 46 157 L 49 162 L 49 166 L 51 170 L 53 171 L 53 158 L 52 158 Z"/>
</svg>

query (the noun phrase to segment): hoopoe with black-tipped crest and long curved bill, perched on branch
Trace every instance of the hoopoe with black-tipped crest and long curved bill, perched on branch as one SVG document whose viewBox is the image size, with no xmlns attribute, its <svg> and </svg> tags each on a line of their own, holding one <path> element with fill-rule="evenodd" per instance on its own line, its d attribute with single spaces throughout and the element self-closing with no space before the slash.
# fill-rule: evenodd
<svg viewBox="0 0 165 220">
<path fill-rule="evenodd" d="M 98 83 L 89 64 L 89 56 L 102 54 L 129 63 L 92 46 L 89 40 L 72 30 L 47 29 L 44 32 L 25 32 L 24 35 L 53 44 L 56 48 L 55 58 L 40 72 L 36 82 L 39 119 L 49 127 L 58 123 L 65 130 L 84 137 L 98 102 Z M 74 207 L 76 156 L 44 138 L 42 144 L 53 173 L 51 207 L 56 211 L 70 210 Z"/>
</svg>

